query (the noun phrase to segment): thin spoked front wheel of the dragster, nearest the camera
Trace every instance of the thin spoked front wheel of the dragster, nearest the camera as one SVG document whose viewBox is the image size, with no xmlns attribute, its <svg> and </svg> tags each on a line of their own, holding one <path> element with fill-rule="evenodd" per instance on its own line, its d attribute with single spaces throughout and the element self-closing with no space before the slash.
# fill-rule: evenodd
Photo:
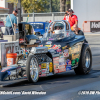
<svg viewBox="0 0 100 100">
<path fill-rule="evenodd" d="M 29 82 L 37 82 L 39 78 L 38 61 L 34 55 L 30 55 L 26 64 L 26 75 Z"/>
</svg>

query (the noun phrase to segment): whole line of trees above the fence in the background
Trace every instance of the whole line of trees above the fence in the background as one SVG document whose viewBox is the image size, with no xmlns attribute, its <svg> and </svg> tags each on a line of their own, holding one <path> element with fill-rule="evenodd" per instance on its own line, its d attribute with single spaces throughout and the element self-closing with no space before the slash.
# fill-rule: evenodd
<svg viewBox="0 0 100 100">
<path fill-rule="evenodd" d="M 7 0 L 17 7 L 18 0 Z M 65 12 L 70 8 L 70 0 L 21 0 L 24 13 Z"/>
</svg>

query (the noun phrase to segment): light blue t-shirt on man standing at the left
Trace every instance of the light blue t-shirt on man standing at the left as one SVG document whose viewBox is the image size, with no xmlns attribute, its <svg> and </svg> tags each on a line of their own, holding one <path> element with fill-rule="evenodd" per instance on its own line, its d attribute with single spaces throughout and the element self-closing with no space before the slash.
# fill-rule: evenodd
<svg viewBox="0 0 100 100">
<path fill-rule="evenodd" d="M 11 18 L 12 24 L 17 24 L 17 18 L 14 14 L 10 14 L 10 18 Z M 7 16 L 7 18 L 5 20 L 6 21 L 6 25 L 5 25 L 6 27 L 12 27 L 10 18 L 9 18 L 9 16 Z"/>
</svg>

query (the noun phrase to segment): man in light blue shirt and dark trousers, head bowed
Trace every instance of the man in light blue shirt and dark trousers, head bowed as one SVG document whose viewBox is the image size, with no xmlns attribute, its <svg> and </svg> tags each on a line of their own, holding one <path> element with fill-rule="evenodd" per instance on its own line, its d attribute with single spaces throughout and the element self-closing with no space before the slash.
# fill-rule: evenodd
<svg viewBox="0 0 100 100">
<path fill-rule="evenodd" d="M 5 29 L 5 35 L 14 35 L 14 32 L 13 32 L 13 28 L 16 29 L 17 27 L 17 13 L 18 11 L 17 10 L 14 10 L 12 12 L 12 14 L 8 15 L 6 17 L 6 20 L 5 20 L 5 26 L 6 26 L 6 29 Z M 13 25 L 13 27 L 12 27 Z"/>
</svg>

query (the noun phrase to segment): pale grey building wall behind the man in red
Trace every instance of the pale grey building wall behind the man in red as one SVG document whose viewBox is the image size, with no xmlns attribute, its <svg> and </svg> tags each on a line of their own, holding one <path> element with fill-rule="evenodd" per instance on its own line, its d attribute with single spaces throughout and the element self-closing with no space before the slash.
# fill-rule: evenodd
<svg viewBox="0 0 100 100">
<path fill-rule="evenodd" d="M 71 8 L 78 16 L 81 29 L 83 21 L 100 21 L 100 0 L 71 0 Z"/>
</svg>

